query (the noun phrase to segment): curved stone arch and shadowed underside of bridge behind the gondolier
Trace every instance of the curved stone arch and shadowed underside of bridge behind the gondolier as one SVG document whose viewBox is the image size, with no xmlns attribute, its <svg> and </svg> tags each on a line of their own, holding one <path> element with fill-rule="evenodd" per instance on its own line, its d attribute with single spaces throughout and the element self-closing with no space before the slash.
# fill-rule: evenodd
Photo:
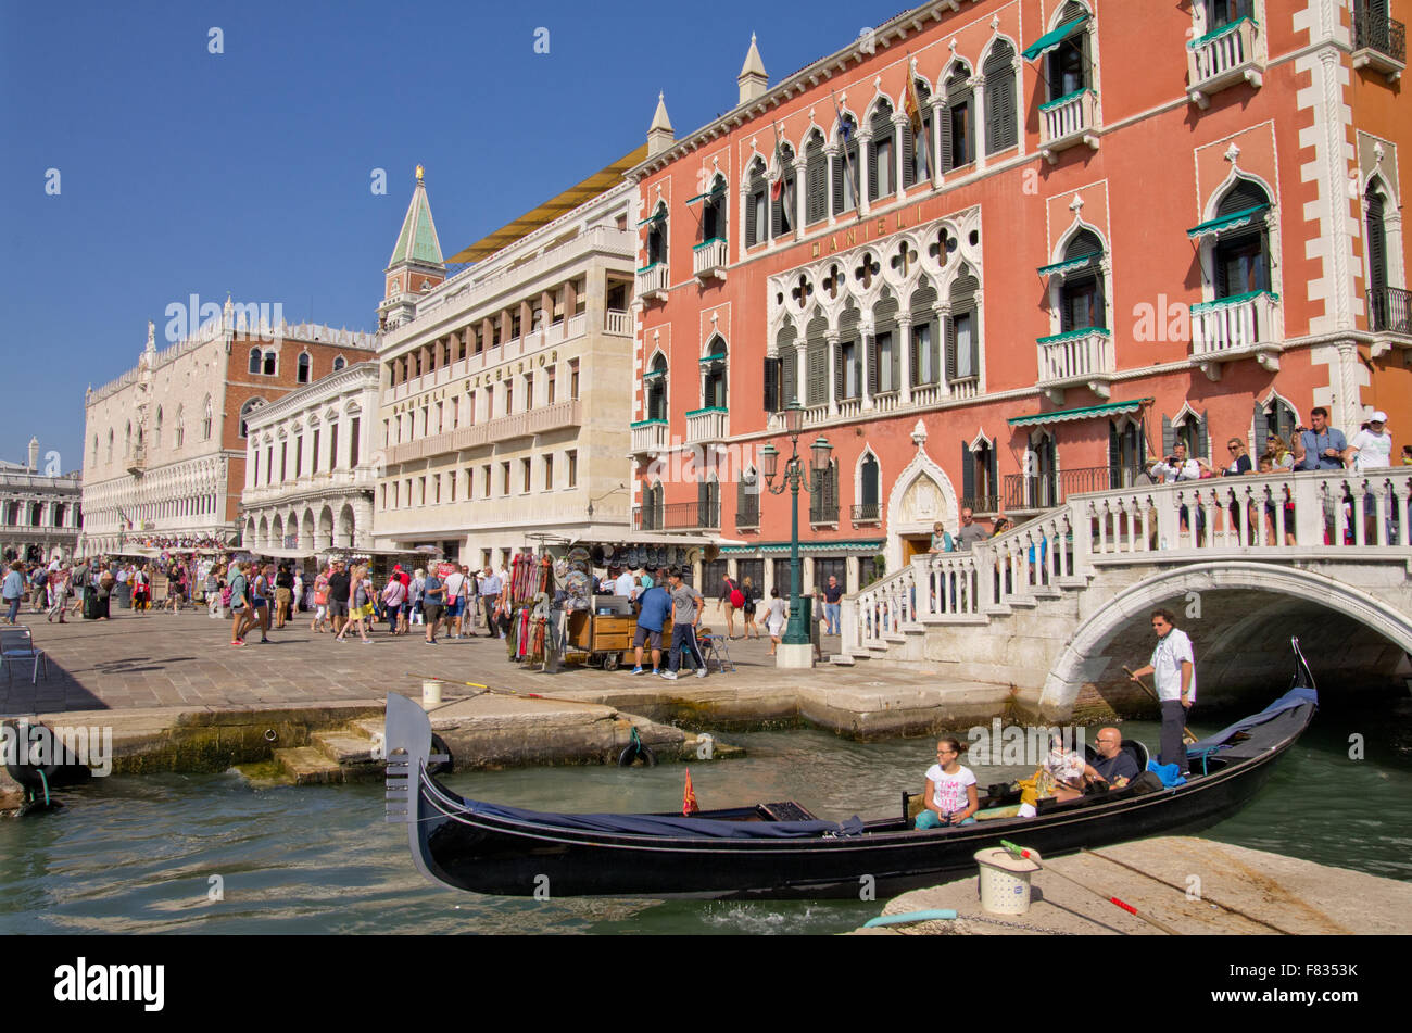
<svg viewBox="0 0 1412 1033">
<path fill-rule="evenodd" d="M 1187 618 L 1192 605 L 1195 618 Z M 1039 694 L 1039 714 L 1067 718 L 1087 686 L 1108 696 L 1138 691 L 1123 666 L 1152 649 L 1148 615 L 1166 605 L 1196 645 L 1197 699 L 1233 701 L 1292 670 L 1288 642 L 1300 639 L 1320 684 L 1401 682 L 1412 624 L 1399 610 L 1344 580 L 1306 567 L 1213 560 L 1144 577 L 1097 607 L 1075 629 Z M 1340 677 L 1341 676 L 1341 677 Z"/>
</svg>

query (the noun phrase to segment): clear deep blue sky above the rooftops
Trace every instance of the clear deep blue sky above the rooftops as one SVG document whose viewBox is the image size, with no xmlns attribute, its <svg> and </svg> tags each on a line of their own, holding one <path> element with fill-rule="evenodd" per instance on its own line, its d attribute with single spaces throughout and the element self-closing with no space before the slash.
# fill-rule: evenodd
<svg viewBox="0 0 1412 1033">
<path fill-rule="evenodd" d="M 371 330 L 418 162 L 450 255 L 642 144 L 658 90 L 678 135 L 734 107 L 751 31 L 774 83 L 895 13 L 0 0 L 0 457 L 78 469 L 85 388 L 191 294 Z"/>
</svg>

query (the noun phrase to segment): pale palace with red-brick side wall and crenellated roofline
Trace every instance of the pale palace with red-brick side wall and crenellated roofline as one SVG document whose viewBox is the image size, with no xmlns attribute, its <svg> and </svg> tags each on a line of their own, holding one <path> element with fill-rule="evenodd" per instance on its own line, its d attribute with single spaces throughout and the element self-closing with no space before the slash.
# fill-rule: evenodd
<svg viewBox="0 0 1412 1033">
<path fill-rule="evenodd" d="M 246 419 L 304 384 L 366 361 L 376 334 L 222 316 L 85 398 L 85 555 L 239 540 Z M 254 306 L 249 306 L 253 309 Z"/>
</svg>

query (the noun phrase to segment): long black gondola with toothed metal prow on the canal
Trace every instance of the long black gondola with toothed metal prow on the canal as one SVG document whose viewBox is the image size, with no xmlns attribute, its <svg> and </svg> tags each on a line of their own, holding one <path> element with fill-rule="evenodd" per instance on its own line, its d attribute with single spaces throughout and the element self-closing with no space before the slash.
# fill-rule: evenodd
<svg viewBox="0 0 1412 1033">
<path fill-rule="evenodd" d="M 895 818 L 822 821 L 794 802 L 681 814 L 544 814 L 467 800 L 426 773 L 431 723 L 404 696 L 387 699 L 388 821 L 407 821 L 412 859 L 455 889 L 504 896 L 857 898 L 898 893 L 974 871 L 1003 838 L 1045 857 L 1148 835 L 1190 833 L 1244 807 L 1309 725 L 1319 697 L 1292 642 L 1293 684 L 1265 710 L 1187 748 L 1186 785 L 1149 779 L 993 818 L 916 831 Z M 1010 796 L 987 795 L 981 807 Z M 1045 802 L 1046 804 L 1049 802 Z M 905 807 L 905 797 L 904 797 Z"/>
</svg>

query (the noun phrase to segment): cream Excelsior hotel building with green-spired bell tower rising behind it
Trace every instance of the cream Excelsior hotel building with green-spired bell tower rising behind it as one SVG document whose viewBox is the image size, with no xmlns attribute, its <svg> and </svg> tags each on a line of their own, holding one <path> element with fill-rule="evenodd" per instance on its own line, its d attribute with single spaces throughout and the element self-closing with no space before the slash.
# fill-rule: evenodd
<svg viewBox="0 0 1412 1033">
<path fill-rule="evenodd" d="M 473 244 L 445 282 L 418 178 L 380 313 L 374 545 L 500 563 L 624 540 L 635 196 L 627 155 Z"/>
</svg>

